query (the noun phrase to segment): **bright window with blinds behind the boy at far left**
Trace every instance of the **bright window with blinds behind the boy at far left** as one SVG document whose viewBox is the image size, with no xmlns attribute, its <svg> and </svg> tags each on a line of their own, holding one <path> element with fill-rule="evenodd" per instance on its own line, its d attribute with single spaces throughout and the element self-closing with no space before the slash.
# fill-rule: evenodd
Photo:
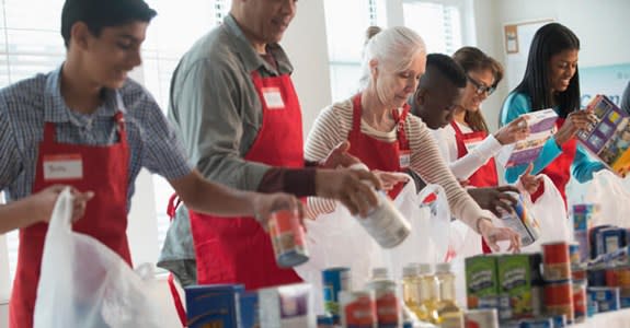
<svg viewBox="0 0 630 328">
<path fill-rule="evenodd" d="M 0 2 L 0 87 L 38 72 L 54 70 L 62 62 L 66 49 L 59 32 L 59 17 L 64 1 Z M 177 1 L 147 0 L 147 2 L 158 11 L 158 16 L 147 31 L 147 39 L 142 45 L 142 66 L 131 72 L 131 75 L 144 83 L 165 113 L 172 71 L 180 57 L 198 37 L 222 21 L 231 0 L 188 0 L 186 5 L 195 10 L 186 11 L 181 10 L 182 4 Z M 37 8 L 37 11 L 33 11 L 33 8 Z M 147 247 L 144 243 L 147 239 L 145 236 L 147 232 L 157 232 L 157 236 L 149 233 L 151 234 L 149 237 L 157 242 L 149 243 L 152 249 L 142 253 L 150 256 L 141 256 L 142 259 L 157 258 L 159 248 L 154 245 L 157 243 L 161 247 L 169 226 L 165 204 L 171 192 L 169 184 L 158 176 L 145 178 L 141 175 L 137 180 L 131 216 L 137 212 L 142 220 L 140 225 L 151 224 L 152 227 L 147 229 L 145 225 L 144 230 L 141 227 L 134 230 L 131 227 L 134 223 L 129 222 L 127 232 L 131 253 Z M 144 202 L 137 202 L 138 198 L 149 198 L 154 209 L 147 210 Z M 8 300 L 10 295 L 18 246 L 18 232 L 0 235 L 0 302 Z"/>
</svg>

